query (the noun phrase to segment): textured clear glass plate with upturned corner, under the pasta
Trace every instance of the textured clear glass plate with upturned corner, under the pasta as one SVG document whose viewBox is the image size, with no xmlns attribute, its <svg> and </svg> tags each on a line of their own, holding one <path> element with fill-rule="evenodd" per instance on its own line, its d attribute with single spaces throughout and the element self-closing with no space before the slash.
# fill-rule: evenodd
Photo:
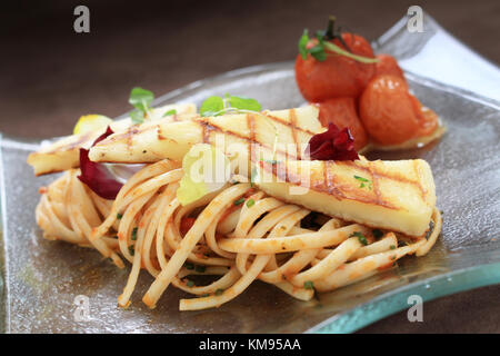
<svg viewBox="0 0 500 356">
<path fill-rule="evenodd" d="M 448 132 L 430 147 L 397 154 L 374 152 L 371 158 L 420 157 L 431 165 L 444 222 L 442 235 L 429 255 L 403 258 L 399 268 L 319 295 L 309 303 L 294 300 L 273 286 L 256 283 L 218 309 L 182 313 L 178 310 L 178 300 L 184 294 L 173 288 L 167 290 L 156 309 L 143 306 L 140 299 L 152 279 L 142 273 L 132 305 L 123 310 L 117 307 L 117 297 L 126 284 L 128 269 L 117 269 L 93 250 L 41 237 L 33 212 L 39 199 L 38 188 L 54 177 L 36 178 L 26 164 L 28 154 L 39 142 L 3 137 L 0 145 L 2 330 L 350 333 L 408 308 L 410 295 L 431 300 L 500 283 L 500 103 L 492 99 L 494 92 L 487 90 L 498 89 L 496 78 L 500 71 L 444 32 L 429 16 L 424 19 L 426 32 L 409 33 L 404 21 L 400 21 L 374 47 L 401 60 L 409 70 L 411 89 L 442 117 Z M 436 36 L 439 41 L 432 44 Z M 479 88 L 482 95 L 472 92 L 478 89 L 473 85 L 479 82 L 476 79 L 471 79 L 469 90 L 463 90 L 459 88 L 460 81 L 451 81 L 450 86 L 450 80 L 443 83 L 422 77 L 426 72 L 434 73 L 429 70 L 424 53 L 432 53 L 432 46 L 448 53 L 448 44 L 450 51 L 459 49 L 461 60 L 468 62 L 467 68 L 458 68 L 454 77 L 461 73 L 467 78 L 479 77 L 484 83 Z M 439 79 L 454 77 L 448 73 Z M 257 98 L 269 109 L 303 103 L 291 62 L 231 71 L 172 91 L 154 103 L 200 103 L 210 95 L 226 92 Z M 90 319 L 86 322 L 73 317 L 79 295 L 89 298 Z"/>
</svg>

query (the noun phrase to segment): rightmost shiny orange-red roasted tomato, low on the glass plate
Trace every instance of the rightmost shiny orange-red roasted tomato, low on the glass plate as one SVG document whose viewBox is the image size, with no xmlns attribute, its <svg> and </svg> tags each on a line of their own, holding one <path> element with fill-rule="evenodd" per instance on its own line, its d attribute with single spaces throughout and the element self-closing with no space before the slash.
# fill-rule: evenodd
<svg viewBox="0 0 500 356">
<path fill-rule="evenodd" d="M 368 135 L 381 145 L 402 144 L 437 127 L 437 117 L 424 115 L 407 82 L 396 76 L 373 78 L 361 95 L 359 109 Z"/>
</svg>

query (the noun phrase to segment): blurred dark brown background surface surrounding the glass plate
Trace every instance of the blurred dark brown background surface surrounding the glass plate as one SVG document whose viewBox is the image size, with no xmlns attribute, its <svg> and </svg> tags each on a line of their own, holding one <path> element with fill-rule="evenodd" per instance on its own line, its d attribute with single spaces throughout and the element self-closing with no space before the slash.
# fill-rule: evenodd
<svg viewBox="0 0 500 356">
<path fill-rule="evenodd" d="M 90 33 L 73 31 L 73 9 L 90 9 Z M 130 109 L 133 86 L 157 96 L 228 70 L 292 60 L 303 30 L 328 14 L 373 40 L 419 4 L 466 44 L 500 62 L 500 1 L 16 1 L 0 14 L 0 132 L 49 138 L 84 113 Z M 500 333 L 500 286 L 406 310 L 367 333 Z"/>
</svg>

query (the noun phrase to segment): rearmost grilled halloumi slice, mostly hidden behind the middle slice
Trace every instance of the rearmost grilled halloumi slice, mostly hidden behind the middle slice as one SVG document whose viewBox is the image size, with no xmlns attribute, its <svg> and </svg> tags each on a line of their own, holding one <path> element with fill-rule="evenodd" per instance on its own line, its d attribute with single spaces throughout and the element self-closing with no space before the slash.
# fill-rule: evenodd
<svg viewBox="0 0 500 356">
<path fill-rule="evenodd" d="M 166 112 L 173 109 L 177 111 L 176 116 L 168 116 L 163 118 Z M 183 120 L 194 117 L 196 112 L 197 107 L 194 103 L 167 105 L 152 109 L 150 119 L 151 121 L 160 119 L 162 121 Z M 114 132 L 120 132 L 131 127 L 132 121 L 130 118 L 124 118 L 113 121 L 110 126 Z M 47 146 L 42 146 L 38 151 L 30 154 L 28 156 L 28 164 L 33 167 L 37 176 L 79 167 L 80 148 L 88 149 L 104 131 L 106 128 L 102 128 L 96 131 L 63 137 L 56 142 L 50 142 Z"/>
</svg>

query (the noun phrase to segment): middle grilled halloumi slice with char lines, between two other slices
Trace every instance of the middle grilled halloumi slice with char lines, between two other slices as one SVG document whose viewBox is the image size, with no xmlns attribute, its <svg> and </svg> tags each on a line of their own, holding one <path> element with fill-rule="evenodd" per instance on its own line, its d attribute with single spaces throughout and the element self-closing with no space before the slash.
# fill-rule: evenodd
<svg viewBox="0 0 500 356">
<path fill-rule="evenodd" d="M 147 164 L 166 158 L 181 160 L 193 145 L 204 142 L 222 149 L 230 158 L 247 162 L 250 152 L 260 151 L 267 159 L 271 159 L 274 151 L 277 158 L 300 159 L 309 139 L 323 130 L 313 106 L 198 117 L 180 122 L 159 120 L 109 136 L 90 149 L 89 157 L 92 161 L 120 164 Z"/>
</svg>

